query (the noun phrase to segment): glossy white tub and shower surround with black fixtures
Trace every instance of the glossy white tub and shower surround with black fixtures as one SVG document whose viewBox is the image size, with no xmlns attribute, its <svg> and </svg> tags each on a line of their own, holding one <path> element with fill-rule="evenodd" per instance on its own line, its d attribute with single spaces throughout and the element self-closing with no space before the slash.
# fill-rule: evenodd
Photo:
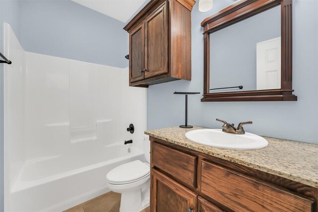
<svg viewBox="0 0 318 212">
<path fill-rule="evenodd" d="M 128 86 L 127 68 L 25 52 L 8 24 L 4 54 L 5 211 L 67 209 L 109 191 L 111 168 L 144 159 L 147 90 Z"/>
</svg>

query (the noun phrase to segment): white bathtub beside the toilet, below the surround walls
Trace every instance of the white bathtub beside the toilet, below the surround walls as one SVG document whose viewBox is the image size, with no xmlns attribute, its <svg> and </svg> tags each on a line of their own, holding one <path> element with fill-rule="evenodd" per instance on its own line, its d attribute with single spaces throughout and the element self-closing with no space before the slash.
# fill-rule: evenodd
<svg viewBox="0 0 318 212">
<path fill-rule="evenodd" d="M 141 150 L 122 143 L 96 149 L 93 155 L 72 153 L 25 161 L 11 189 L 10 211 L 69 209 L 110 191 L 106 173 L 114 167 L 145 160 Z"/>
</svg>

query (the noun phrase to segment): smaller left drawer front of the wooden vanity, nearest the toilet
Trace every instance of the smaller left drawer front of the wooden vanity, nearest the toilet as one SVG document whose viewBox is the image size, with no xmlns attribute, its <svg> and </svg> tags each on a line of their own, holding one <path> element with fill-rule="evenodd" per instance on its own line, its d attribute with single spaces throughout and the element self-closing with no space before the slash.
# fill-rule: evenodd
<svg viewBox="0 0 318 212">
<path fill-rule="evenodd" d="M 152 163 L 173 178 L 196 187 L 197 157 L 153 142 Z"/>
</svg>

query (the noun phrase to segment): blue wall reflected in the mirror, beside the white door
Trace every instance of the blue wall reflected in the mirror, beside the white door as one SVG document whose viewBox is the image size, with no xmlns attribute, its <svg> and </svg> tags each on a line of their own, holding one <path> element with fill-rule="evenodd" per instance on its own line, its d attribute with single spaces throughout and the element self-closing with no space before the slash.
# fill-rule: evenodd
<svg viewBox="0 0 318 212">
<path fill-rule="evenodd" d="M 280 6 L 210 34 L 210 88 L 256 90 L 256 43 L 280 37 Z M 224 63 L 227 58 L 231 63 Z M 239 88 L 213 92 L 239 91 Z"/>
</svg>

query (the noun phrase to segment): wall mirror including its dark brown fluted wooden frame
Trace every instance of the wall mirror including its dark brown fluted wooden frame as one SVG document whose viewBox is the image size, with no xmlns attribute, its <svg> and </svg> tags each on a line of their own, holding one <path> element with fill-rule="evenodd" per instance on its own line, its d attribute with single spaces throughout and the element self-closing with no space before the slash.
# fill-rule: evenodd
<svg viewBox="0 0 318 212">
<path fill-rule="evenodd" d="M 296 101 L 292 0 L 240 0 L 206 18 L 201 101 Z"/>
</svg>

